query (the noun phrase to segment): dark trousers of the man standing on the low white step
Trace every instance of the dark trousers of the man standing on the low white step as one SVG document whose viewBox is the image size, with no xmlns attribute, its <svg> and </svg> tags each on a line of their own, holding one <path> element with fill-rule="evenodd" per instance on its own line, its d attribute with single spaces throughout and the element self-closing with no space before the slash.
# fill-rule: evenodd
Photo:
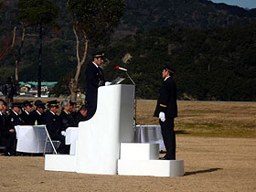
<svg viewBox="0 0 256 192">
<path fill-rule="evenodd" d="M 176 159 L 176 133 L 174 130 L 174 121 L 174 118 L 166 118 L 165 122 L 162 122 L 159 119 L 166 149 L 165 159 L 170 160 Z"/>
</svg>

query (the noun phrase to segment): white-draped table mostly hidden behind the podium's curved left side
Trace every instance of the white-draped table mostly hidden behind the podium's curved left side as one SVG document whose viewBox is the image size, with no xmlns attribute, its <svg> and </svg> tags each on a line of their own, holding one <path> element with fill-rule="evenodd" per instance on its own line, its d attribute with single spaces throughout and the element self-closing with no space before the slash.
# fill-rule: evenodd
<svg viewBox="0 0 256 192">
<path fill-rule="evenodd" d="M 69 155 L 76 155 L 76 141 L 79 136 L 78 127 L 69 127 L 66 129 L 66 141 L 65 144 L 70 144 Z"/>
</svg>

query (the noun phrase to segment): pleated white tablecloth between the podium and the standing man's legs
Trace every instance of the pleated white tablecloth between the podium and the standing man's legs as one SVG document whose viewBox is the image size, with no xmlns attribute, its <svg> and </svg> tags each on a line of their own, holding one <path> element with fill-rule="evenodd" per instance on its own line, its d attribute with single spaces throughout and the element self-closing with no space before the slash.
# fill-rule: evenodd
<svg viewBox="0 0 256 192">
<path fill-rule="evenodd" d="M 159 149 L 165 150 L 160 125 L 136 125 L 134 127 L 134 142 L 159 144 Z"/>
</svg>

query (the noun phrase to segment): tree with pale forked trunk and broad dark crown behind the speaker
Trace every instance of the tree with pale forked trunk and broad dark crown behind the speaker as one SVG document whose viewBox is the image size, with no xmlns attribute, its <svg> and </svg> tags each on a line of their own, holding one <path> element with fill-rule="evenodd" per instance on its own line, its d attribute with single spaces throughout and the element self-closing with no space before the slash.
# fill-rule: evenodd
<svg viewBox="0 0 256 192">
<path fill-rule="evenodd" d="M 124 13 L 124 0 L 69 0 L 69 13 L 73 18 L 73 31 L 77 41 L 77 70 L 69 81 L 71 100 L 76 100 L 80 69 L 85 62 L 89 46 L 106 42 Z"/>
</svg>

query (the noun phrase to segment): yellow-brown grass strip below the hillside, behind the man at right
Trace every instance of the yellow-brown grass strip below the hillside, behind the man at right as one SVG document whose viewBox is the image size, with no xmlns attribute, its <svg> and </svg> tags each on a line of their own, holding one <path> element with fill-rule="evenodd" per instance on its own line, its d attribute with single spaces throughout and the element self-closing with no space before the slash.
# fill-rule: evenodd
<svg viewBox="0 0 256 192">
<path fill-rule="evenodd" d="M 137 123 L 158 124 L 156 101 L 137 102 Z M 176 133 L 217 137 L 256 137 L 256 102 L 178 101 Z"/>
</svg>

